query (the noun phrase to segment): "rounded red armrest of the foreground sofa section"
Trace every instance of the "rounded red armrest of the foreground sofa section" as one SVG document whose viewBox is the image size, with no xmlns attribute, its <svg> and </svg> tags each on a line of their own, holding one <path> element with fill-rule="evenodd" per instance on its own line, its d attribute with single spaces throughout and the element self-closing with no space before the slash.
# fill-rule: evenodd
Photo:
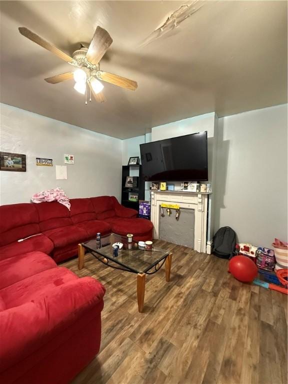
<svg viewBox="0 0 288 384">
<path fill-rule="evenodd" d="M 59 285 L 46 295 L 0 312 L 0 372 L 56 337 L 91 308 L 103 308 L 105 288 L 92 277 Z"/>
</svg>

